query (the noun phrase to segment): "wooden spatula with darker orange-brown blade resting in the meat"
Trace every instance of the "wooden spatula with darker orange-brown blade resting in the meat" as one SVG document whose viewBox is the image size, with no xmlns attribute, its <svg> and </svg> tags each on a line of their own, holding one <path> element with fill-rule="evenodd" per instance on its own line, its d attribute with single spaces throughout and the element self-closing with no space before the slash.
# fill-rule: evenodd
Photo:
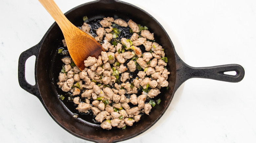
<svg viewBox="0 0 256 143">
<path fill-rule="evenodd" d="M 53 0 L 38 1 L 59 25 L 66 40 L 69 54 L 75 62 L 75 65 L 81 71 L 85 68 L 84 60 L 86 60 L 88 56 L 97 58 L 101 55 L 101 51 L 104 51 L 101 45 L 93 37 L 72 24 Z"/>
</svg>

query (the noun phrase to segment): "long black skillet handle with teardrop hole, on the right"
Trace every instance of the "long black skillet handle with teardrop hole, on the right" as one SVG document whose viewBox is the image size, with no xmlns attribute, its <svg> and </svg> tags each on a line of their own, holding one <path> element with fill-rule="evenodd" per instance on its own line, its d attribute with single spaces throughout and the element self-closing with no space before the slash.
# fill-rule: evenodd
<svg viewBox="0 0 256 143">
<path fill-rule="evenodd" d="M 177 88 L 190 78 L 207 78 L 225 82 L 240 82 L 245 76 L 245 70 L 238 64 L 227 64 L 212 67 L 191 67 L 181 59 L 177 60 Z M 235 71 L 236 75 L 225 74 L 227 71 Z M 176 89 L 177 89 L 176 88 Z"/>
</svg>

